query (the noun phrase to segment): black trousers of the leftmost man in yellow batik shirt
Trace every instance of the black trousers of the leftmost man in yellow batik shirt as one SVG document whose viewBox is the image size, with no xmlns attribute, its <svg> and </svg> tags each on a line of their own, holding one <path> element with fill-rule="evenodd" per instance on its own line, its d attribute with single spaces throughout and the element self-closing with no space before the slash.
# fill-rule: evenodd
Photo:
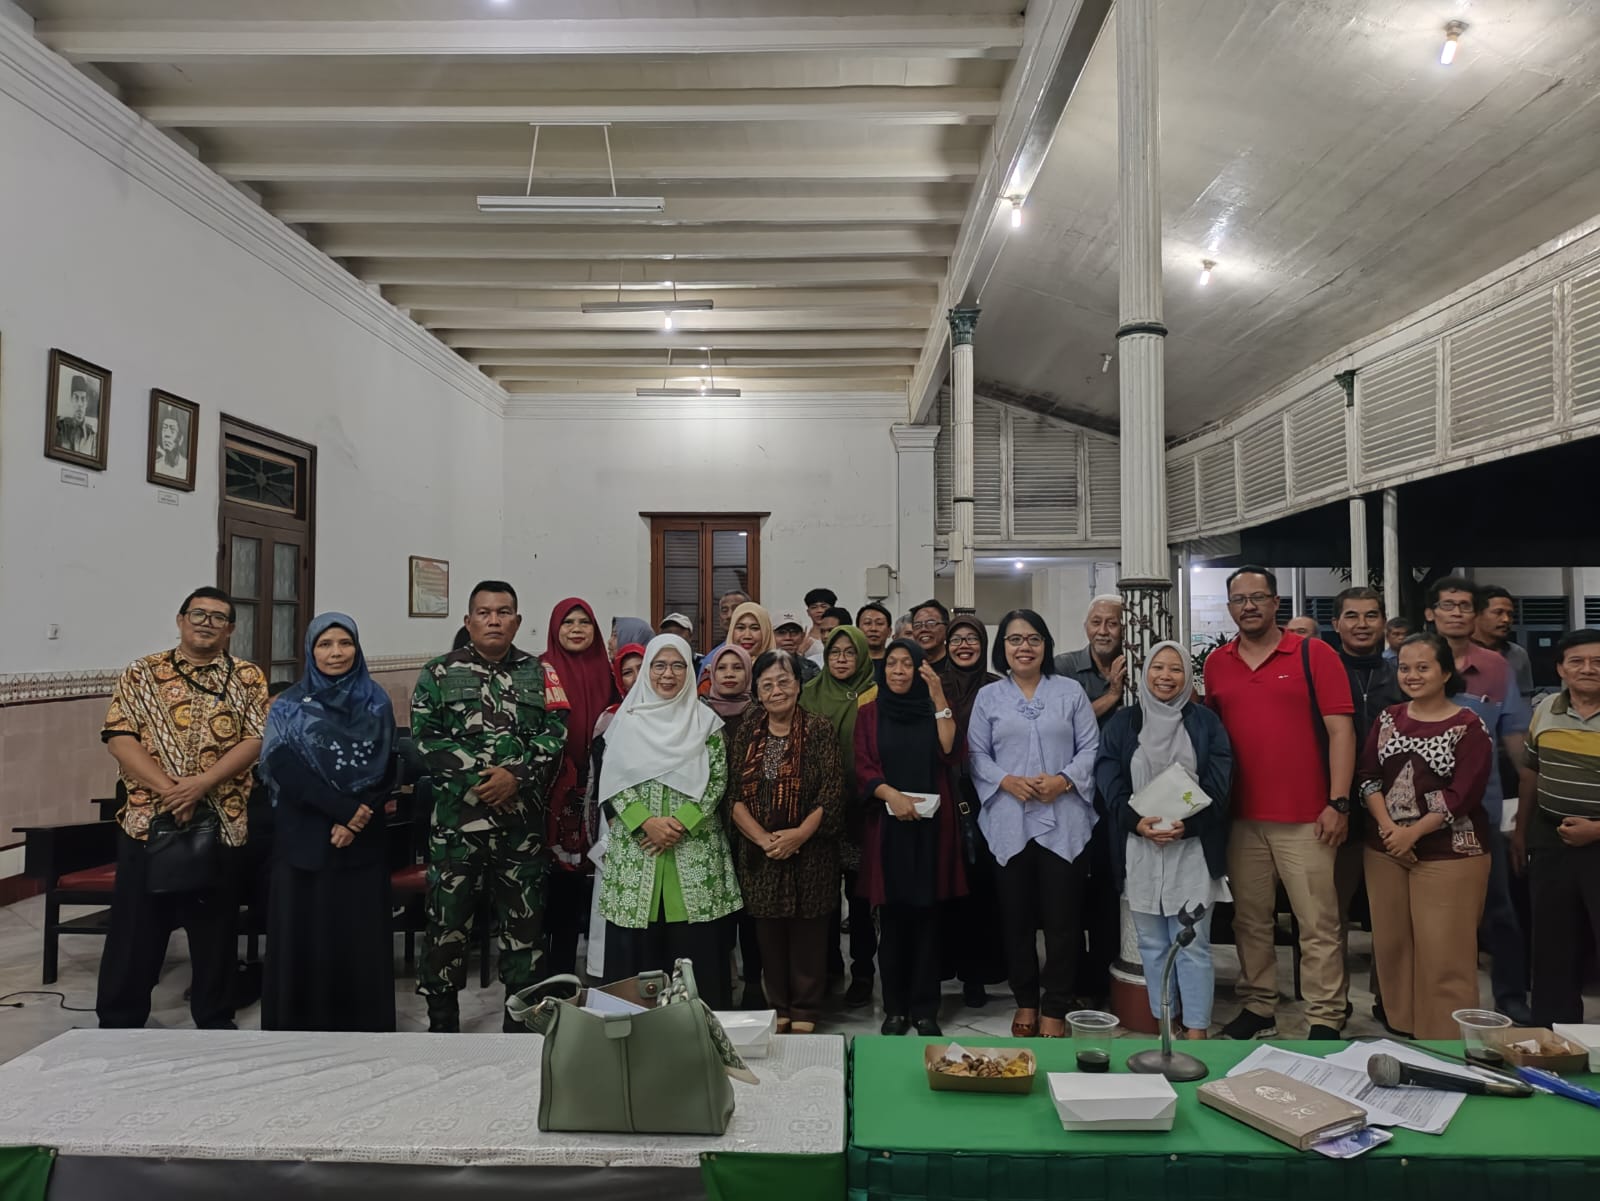
<svg viewBox="0 0 1600 1201">
<path fill-rule="evenodd" d="M 154 896 L 144 891 L 144 843 L 117 835 L 117 883 L 110 894 L 110 931 L 101 952 L 94 1012 L 102 1028 L 138 1030 L 150 1019 L 150 990 L 162 977 L 166 944 L 179 926 L 189 936 L 189 1012 L 200 1030 L 234 1025 L 234 976 L 238 958 L 242 852 L 222 851 L 222 884 L 208 892 Z"/>
</svg>

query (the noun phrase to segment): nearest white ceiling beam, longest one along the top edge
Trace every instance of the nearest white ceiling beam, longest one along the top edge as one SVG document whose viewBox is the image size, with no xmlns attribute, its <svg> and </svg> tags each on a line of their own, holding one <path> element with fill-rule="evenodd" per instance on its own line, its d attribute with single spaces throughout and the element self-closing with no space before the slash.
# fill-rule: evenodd
<svg viewBox="0 0 1600 1201">
<path fill-rule="evenodd" d="M 37 35 L 83 62 L 307 56 L 882 54 L 1014 53 L 1002 16 L 624 18 L 611 21 L 40 21 Z"/>
</svg>

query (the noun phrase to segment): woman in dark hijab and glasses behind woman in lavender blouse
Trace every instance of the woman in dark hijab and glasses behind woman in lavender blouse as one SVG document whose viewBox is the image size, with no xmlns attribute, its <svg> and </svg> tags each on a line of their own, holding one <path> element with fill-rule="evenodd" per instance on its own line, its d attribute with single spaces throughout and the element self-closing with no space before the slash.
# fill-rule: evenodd
<svg viewBox="0 0 1600 1201">
<path fill-rule="evenodd" d="M 944 638 L 946 656 L 939 662 L 944 696 L 955 710 L 955 740 L 966 745 L 966 723 L 973 715 L 978 689 L 997 676 L 989 670 L 989 630 L 976 617 L 954 617 Z M 989 1001 L 987 984 L 1006 979 L 1005 945 L 1000 937 L 1000 897 L 995 892 L 995 859 L 989 854 L 984 832 L 978 828 L 978 790 L 966 776 L 966 761 L 957 768 L 955 806 L 960 817 L 962 862 L 966 867 L 966 896 L 946 905 L 946 979 L 962 980 L 962 1000 L 970 1009 Z M 965 806 L 965 809 L 962 808 Z"/>
</svg>

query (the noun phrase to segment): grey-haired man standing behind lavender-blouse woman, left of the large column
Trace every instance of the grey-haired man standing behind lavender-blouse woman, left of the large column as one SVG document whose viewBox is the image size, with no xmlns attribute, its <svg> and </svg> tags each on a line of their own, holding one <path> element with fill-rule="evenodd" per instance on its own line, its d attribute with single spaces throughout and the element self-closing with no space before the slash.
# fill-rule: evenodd
<svg viewBox="0 0 1600 1201">
<path fill-rule="evenodd" d="M 1082 651 L 1056 656 L 1056 675 L 1077 680 L 1088 692 L 1094 720 L 1104 729 L 1122 708 L 1128 681 L 1128 660 L 1122 644 L 1122 597 L 1101 593 L 1090 601 L 1083 617 L 1088 644 Z M 1104 814 L 1101 814 L 1104 819 Z M 1090 1007 L 1110 993 L 1110 964 L 1122 950 L 1122 902 L 1110 862 L 1112 822 L 1098 820 L 1090 835 L 1090 880 L 1083 892 L 1083 932 L 1088 950 L 1078 955 L 1074 993 Z"/>
</svg>

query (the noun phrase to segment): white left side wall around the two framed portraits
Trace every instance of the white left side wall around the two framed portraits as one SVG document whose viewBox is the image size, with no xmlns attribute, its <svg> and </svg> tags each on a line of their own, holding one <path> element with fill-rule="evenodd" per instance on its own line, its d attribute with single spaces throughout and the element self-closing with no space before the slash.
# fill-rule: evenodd
<svg viewBox="0 0 1600 1201">
<path fill-rule="evenodd" d="M 501 417 L 482 385 L 6 94 L 0 163 L 0 673 L 106 670 L 171 640 L 184 593 L 216 581 L 224 411 L 318 448 L 317 606 L 355 616 L 374 654 L 448 646 L 445 622 L 406 617 L 406 557 L 450 558 L 453 584 L 501 566 Z M 42 454 L 51 347 L 114 373 L 109 464 L 88 488 Z M 146 483 L 152 387 L 200 405 L 178 507 Z"/>
</svg>

